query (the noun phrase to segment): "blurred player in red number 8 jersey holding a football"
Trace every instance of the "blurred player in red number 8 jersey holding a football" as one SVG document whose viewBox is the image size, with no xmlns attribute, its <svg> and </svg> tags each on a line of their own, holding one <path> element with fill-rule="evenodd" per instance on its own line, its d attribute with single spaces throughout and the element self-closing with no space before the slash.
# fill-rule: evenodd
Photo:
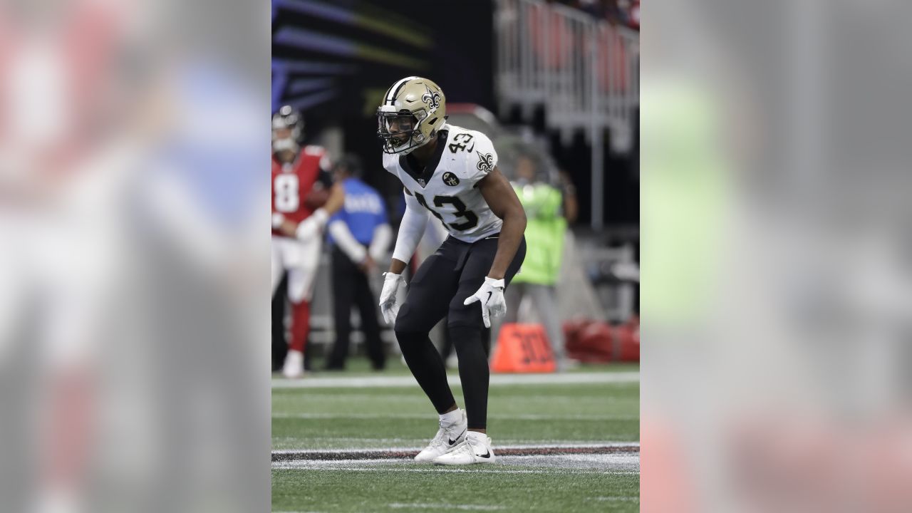
<svg viewBox="0 0 912 513">
<path fill-rule="evenodd" d="M 323 228 L 345 196 L 328 173 L 326 150 L 300 146 L 304 121 L 285 106 L 273 116 L 273 294 L 288 273 L 291 340 L 282 373 L 304 374 L 304 347 L 310 330 L 310 297 L 323 243 Z"/>
</svg>

